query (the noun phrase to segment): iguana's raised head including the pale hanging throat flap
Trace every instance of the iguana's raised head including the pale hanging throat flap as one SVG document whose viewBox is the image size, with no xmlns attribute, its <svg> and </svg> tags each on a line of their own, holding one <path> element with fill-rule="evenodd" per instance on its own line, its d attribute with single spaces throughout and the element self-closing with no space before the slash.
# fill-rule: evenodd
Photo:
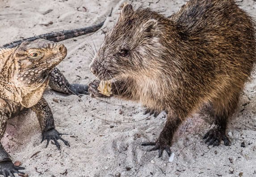
<svg viewBox="0 0 256 177">
<path fill-rule="evenodd" d="M 49 40 L 23 42 L 12 55 L 13 82 L 22 106 L 36 105 L 48 84 L 50 71 L 67 55 L 67 48 Z"/>
</svg>

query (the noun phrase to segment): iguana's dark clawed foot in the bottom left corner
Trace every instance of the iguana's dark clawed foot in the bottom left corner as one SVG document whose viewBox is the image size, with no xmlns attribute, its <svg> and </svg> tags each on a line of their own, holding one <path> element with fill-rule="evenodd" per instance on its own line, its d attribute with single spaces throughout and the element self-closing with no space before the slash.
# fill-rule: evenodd
<svg viewBox="0 0 256 177">
<path fill-rule="evenodd" d="M 1 161 L 0 162 L 0 174 L 4 177 L 15 177 L 14 173 L 25 174 L 19 170 L 25 169 L 24 167 L 15 166 L 11 161 Z"/>
</svg>

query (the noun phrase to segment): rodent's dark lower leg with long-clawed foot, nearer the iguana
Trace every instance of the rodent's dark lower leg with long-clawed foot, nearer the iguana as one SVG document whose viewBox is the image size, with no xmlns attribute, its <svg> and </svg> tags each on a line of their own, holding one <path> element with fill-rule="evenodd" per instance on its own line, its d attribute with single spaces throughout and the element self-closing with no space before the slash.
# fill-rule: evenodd
<svg viewBox="0 0 256 177">
<path fill-rule="evenodd" d="M 162 157 L 164 150 L 168 153 L 168 156 L 170 157 L 172 137 L 176 129 L 179 127 L 180 123 L 181 120 L 179 118 L 167 118 L 164 129 L 160 133 L 158 139 L 155 142 L 144 142 L 141 145 L 154 146 L 153 148 L 148 149 L 147 152 L 158 150 L 158 157 Z"/>
</svg>

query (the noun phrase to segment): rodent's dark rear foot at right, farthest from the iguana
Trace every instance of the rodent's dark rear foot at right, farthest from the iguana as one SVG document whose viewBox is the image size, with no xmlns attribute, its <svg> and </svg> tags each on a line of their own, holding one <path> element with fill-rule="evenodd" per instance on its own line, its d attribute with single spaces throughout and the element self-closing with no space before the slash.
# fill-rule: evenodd
<svg viewBox="0 0 256 177">
<path fill-rule="evenodd" d="M 209 132 L 205 134 L 203 139 L 206 139 L 205 143 L 208 145 L 218 146 L 220 142 L 223 140 L 224 145 L 229 146 L 230 141 L 225 134 L 225 131 L 221 131 L 219 129 L 211 129 Z"/>
</svg>

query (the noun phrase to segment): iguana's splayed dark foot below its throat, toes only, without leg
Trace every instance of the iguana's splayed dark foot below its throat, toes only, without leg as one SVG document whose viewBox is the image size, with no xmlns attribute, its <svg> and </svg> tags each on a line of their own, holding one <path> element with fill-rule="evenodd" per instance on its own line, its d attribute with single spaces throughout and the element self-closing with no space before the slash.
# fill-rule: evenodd
<svg viewBox="0 0 256 177">
<path fill-rule="evenodd" d="M 60 145 L 59 145 L 59 142 L 57 140 L 61 140 L 61 141 L 63 141 L 63 143 L 65 145 L 70 147 L 69 143 L 67 141 L 63 140 L 61 135 L 64 135 L 64 134 L 59 133 L 55 129 L 50 129 L 50 130 L 42 133 L 42 141 L 41 141 L 41 143 L 43 141 L 47 140 L 47 143 L 46 143 L 46 148 L 47 148 L 47 146 L 49 145 L 50 140 L 53 140 L 55 145 L 57 146 L 57 148 L 60 150 Z"/>
</svg>

